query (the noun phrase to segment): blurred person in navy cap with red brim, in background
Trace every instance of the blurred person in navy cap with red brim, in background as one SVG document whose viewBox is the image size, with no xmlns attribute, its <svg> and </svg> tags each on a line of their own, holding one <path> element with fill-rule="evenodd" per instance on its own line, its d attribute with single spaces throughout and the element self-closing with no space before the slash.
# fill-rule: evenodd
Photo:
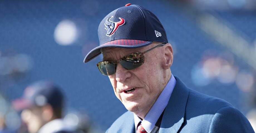
<svg viewBox="0 0 256 133">
<path fill-rule="evenodd" d="M 73 133 L 75 127 L 62 119 L 64 96 L 60 88 L 48 81 L 39 81 L 24 90 L 23 97 L 13 101 L 21 110 L 21 119 L 29 133 Z"/>
</svg>

